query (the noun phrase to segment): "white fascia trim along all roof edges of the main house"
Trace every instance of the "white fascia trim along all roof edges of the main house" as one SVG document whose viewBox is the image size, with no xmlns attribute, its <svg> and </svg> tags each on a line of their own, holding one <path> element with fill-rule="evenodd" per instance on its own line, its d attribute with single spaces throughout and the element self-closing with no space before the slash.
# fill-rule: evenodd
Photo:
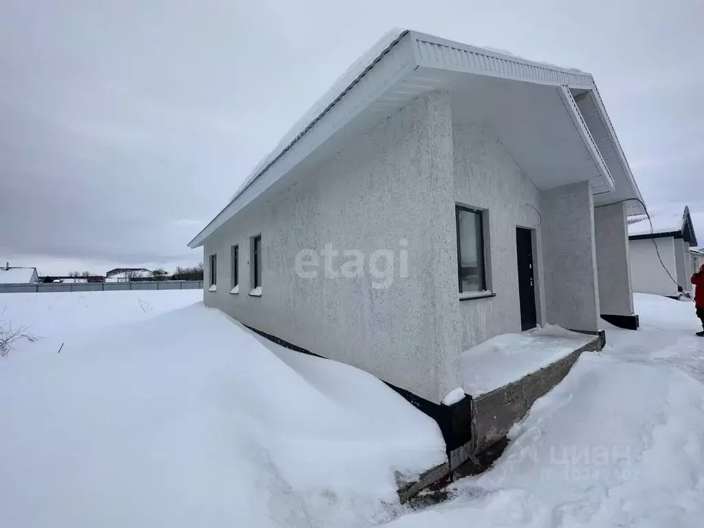
<svg viewBox="0 0 704 528">
<path fill-rule="evenodd" d="M 313 118 L 306 127 L 287 145 L 279 151 L 274 151 L 260 163 L 256 172 L 247 180 L 247 183 L 238 191 L 234 199 L 211 220 L 206 227 L 189 242 L 192 249 L 202 246 L 215 230 L 232 218 L 239 210 L 267 189 L 272 182 L 282 177 L 298 163 L 317 149 L 325 140 L 339 131 L 365 106 L 373 103 L 387 89 L 403 79 L 417 68 L 443 70 L 445 72 L 471 73 L 502 77 L 505 79 L 522 82 L 550 84 L 562 87 L 568 108 L 572 108 L 574 119 L 581 120 L 579 108 L 574 105 L 574 99 L 569 89 L 592 90 L 598 103 L 598 108 L 603 114 L 605 122 L 609 125 L 611 141 L 617 146 L 622 156 L 624 167 L 627 168 L 629 182 L 637 191 L 635 180 L 631 175 L 625 161 L 618 140 L 610 125 L 608 115 L 598 96 L 593 77 L 589 73 L 578 70 L 567 70 L 543 63 L 527 61 L 523 58 L 504 55 L 475 46 L 468 46 L 458 42 L 448 41 L 428 34 L 403 30 L 382 51 L 368 61 L 365 68 L 351 80 L 351 82 L 335 96 L 322 111 Z M 569 96 L 569 97 L 568 97 Z M 613 184 L 612 176 L 605 165 L 596 144 L 591 138 L 589 128 L 581 120 L 582 133 L 585 144 L 590 147 L 600 170 L 603 171 L 607 181 Z M 590 141 L 591 140 L 591 141 Z"/>
</svg>

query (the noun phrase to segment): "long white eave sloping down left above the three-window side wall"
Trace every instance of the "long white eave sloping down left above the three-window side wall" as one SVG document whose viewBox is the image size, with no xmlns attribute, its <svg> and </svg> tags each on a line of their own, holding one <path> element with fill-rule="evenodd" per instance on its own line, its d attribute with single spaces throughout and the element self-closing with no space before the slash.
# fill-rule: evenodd
<svg viewBox="0 0 704 528">
<path fill-rule="evenodd" d="M 272 156 L 268 163 L 238 191 L 230 203 L 208 225 L 192 239 L 191 249 L 201 246 L 215 230 L 232 218 L 239 210 L 251 203 L 271 184 L 279 180 L 298 163 L 318 148 L 326 139 L 341 129 L 347 122 L 379 99 L 389 87 L 415 69 L 413 50 L 404 41 L 408 31 L 382 51 L 379 56 L 344 89 L 332 103 L 306 126 L 284 149 Z M 401 45 L 399 45 L 401 44 Z"/>
</svg>

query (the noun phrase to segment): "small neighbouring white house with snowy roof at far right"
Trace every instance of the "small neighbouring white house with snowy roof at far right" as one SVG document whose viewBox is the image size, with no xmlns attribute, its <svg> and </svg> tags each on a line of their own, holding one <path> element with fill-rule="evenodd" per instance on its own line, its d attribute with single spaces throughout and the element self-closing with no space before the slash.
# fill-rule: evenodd
<svg viewBox="0 0 704 528">
<path fill-rule="evenodd" d="M 697 238 L 689 207 L 658 208 L 628 219 L 631 280 L 634 291 L 677 297 L 692 289 L 696 268 L 689 251 Z"/>
</svg>

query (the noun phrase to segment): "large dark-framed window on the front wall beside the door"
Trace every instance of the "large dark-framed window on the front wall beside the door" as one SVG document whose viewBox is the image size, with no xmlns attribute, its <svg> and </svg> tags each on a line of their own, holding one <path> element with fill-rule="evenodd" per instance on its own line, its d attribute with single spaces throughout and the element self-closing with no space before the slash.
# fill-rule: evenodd
<svg viewBox="0 0 704 528">
<path fill-rule="evenodd" d="M 460 294 L 486 290 L 482 211 L 457 206 L 457 260 Z"/>
</svg>

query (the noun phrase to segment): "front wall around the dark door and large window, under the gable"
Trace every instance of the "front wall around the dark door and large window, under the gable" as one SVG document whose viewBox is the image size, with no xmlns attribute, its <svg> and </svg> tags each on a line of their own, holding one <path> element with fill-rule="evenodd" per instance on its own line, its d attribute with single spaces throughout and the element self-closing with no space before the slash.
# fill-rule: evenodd
<svg viewBox="0 0 704 528">
<path fill-rule="evenodd" d="M 462 348 L 507 332 L 521 331 L 516 260 L 516 227 L 536 228 L 536 308 L 538 323 L 545 320 L 541 265 L 539 191 L 522 173 L 495 134 L 486 125 L 453 123 L 455 153 L 455 200 L 465 206 L 486 209 L 489 218 L 489 287 L 496 297 L 460 301 Z M 486 231 L 486 226 L 485 226 Z M 456 262 L 456 258 L 455 258 Z M 456 283 L 456 279 L 455 279 Z M 455 284 L 455 296 L 459 294 Z"/>
</svg>

